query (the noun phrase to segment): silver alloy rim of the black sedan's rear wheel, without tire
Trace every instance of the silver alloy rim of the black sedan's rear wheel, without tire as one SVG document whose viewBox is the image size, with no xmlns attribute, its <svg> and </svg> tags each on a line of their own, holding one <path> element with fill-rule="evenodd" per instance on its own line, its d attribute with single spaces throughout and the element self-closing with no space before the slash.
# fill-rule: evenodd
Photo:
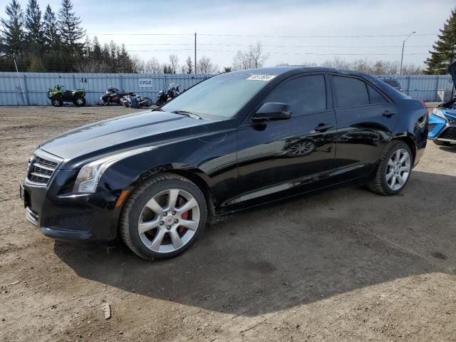
<svg viewBox="0 0 456 342">
<path fill-rule="evenodd" d="M 388 160 L 386 169 L 386 184 L 391 190 L 400 190 L 410 175 L 411 159 L 410 154 L 404 148 L 400 148 L 393 153 Z"/>
</svg>

